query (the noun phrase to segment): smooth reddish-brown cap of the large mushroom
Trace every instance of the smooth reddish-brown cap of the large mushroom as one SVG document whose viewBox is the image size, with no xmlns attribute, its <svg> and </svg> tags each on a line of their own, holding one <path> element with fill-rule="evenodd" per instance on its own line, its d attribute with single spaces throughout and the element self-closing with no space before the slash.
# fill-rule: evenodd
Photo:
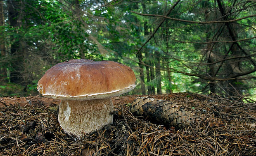
<svg viewBox="0 0 256 156">
<path fill-rule="evenodd" d="M 106 99 L 135 87 L 130 67 L 113 61 L 69 60 L 58 63 L 38 81 L 38 92 L 61 100 Z"/>
</svg>

